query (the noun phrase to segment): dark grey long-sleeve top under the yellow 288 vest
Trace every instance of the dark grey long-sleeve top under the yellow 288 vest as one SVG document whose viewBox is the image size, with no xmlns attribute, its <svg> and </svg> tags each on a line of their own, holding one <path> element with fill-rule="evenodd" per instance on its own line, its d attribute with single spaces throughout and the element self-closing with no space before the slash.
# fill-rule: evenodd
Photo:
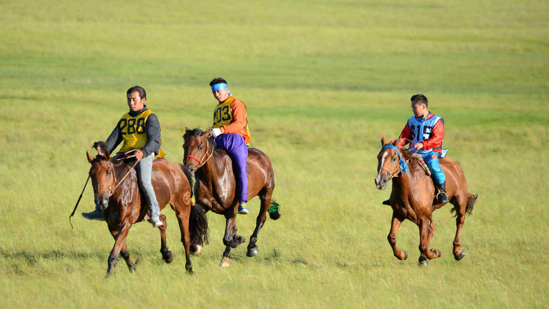
<svg viewBox="0 0 549 309">
<path fill-rule="evenodd" d="M 136 117 L 144 111 L 147 111 L 147 109 L 148 108 L 145 105 L 142 109 L 139 109 L 139 111 L 130 111 L 129 114 L 131 117 Z M 112 153 L 122 142 L 122 131 L 120 130 L 120 124 L 121 122 L 119 121 L 105 142 L 105 144 L 107 144 L 107 148 L 109 149 L 109 153 Z M 153 152 L 154 154 L 158 154 L 158 150 L 160 149 L 160 123 L 158 122 L 158 118 L 155 114 L 150 114 L 149 117 L 147 117 L 147 121 L 145 122 L 145 130 L 147 134 L 147 143 L 143 148 L 141 148 L 143 157 L 148 157 L 149 154 Z"/>
</svg>

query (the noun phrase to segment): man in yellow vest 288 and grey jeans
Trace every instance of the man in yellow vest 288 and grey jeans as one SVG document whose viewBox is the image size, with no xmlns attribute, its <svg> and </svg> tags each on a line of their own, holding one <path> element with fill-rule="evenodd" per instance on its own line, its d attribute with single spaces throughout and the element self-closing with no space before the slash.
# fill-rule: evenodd
<svg viewBox="0 0 549 309">
<path fill-rule="evenodd" d="M 150 177 L 154 158 L 165 157 L 165 154 L 160 150 L 160 124 L 153 111 L 145 105 L 147 93 L 143 87 L 131 87 L 126 92 L 126 97 L 130 112 L 122 115 L 105 144 L 107 144 L 109 153 L 113 152 L 122 141 L 124 144 L 117 154 L 137 150 L 136 158 L 139 162 L 136 165 L 136 171 L 145 194 L 145 200 L 149 205 L 151 222 L 156 228 L 160 227 L 162 222 L 159 218 L 160 207 L 156 201 Z M 98 205 L 96 205 L 96 210 L 82 213 L 82 216 L 89 220 L 104 221 Z"/>
</svg>

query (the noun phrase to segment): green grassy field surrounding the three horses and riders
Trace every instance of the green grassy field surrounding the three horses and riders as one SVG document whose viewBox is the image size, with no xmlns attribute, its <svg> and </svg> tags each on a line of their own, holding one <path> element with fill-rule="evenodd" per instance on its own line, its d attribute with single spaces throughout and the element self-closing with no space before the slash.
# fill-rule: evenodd
<svg viewBox="0 0 549 309">
<path fill-rule="evenodd" d="M 545 307 L 549 301 L 549 2 L 4 1 L 0 3 L 0 307 Z M 104 279 L 105 223 L 68 216 L 85 151 L 104 140 L 141 85 L 181 162 L 185 126 L 211 124 L 210 79 L 247 103 L 253 147 L 270 156 L 282 218 L 259 255 L 220 268 L 225 220 L 184 274 L 175 214 L 128 236 Z M 445 146 L 479 194 L 451 255 L 455 221 L 435 212 L 417 267 L 405 222 L 398 261 L 386 240 L 390 191 L 374 186 L 379 139 L 396 137 L 424 93 Z M 249 238 L 259 200 L 237 219 Z M 79 211 L 93 209 L 91 187 Z"/>
</svg>

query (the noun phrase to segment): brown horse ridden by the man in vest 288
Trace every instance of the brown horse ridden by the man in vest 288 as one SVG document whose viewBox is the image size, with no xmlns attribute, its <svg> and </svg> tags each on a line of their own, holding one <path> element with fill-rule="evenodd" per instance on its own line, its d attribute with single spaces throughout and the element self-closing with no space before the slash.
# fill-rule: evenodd
<svg viewBox="0 0 549 309">
<path fill-rule="evenodd" d="M 103 142 L 96 142 L 93 147 L 101 150 L 95 158 L 86 151 L 88 162 L 92 164 L 89 175 L 92 179 L 93 194 L 96 205 L 102 209 L 103 217 L 115 240 L 108 260 L 107 277 L 113 272 L 120 253 L 130 272 L 134 272 L 136 264 L 130 260 L 126 237 L 132 224 L 150 220 L 144 195 L 139 192 L 136 170 L 132 169 L 135 161 L 130 163 L 111 159 Z M 126 174 L 127 177 L 122 179 Z M 208 241 L 206 217 L 200 208 L 191 206 L 191 176 L 191 172 L 181 164 L 166 159 L 153 161 L 151 181 L 156 199 L 160 210 L 170 203 L 176 212 L 181 241 L 185 247 L 185 269 L 188 273 L 193 272 L 189 247 Z M 160 220 L 163 224 L 159 227 L 160 252 L 164 261 L 171 263 L 173 253 L 166 246 L 166 216 L 161 214 Z"/>
</svg>

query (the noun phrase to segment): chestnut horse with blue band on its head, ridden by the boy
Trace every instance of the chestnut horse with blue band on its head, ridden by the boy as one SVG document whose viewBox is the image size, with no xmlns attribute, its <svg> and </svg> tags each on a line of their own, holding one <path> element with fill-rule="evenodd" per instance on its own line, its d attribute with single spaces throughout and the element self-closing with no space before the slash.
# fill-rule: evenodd
<svg viewBox="0 0 549 309">
<path fill-rule="evenodd" d="M 391 145 L 402 145 L 399 138 Z M 385 136 L 381 140 L 382 146 L 386 145 Z M 436 205 L 435 186 L 430 176 L 426 175 L 417 160 L 412 159 L 412 153 L 401 149 L 401 154 L 394 148 L 386 148 L 378 154 L 378 176 L 375 180 L 379 190 L 384 190 L 388 181 L 393 180 L 393 190 L 389 201 L 393 208 L 391 229 L 387 239 L 393 247 L 393 253 L 399 260 L 406 260 L 408 253 L 396 247 L 396 231 L 404 219 L 416 223 L 419 227 L 419 265 L 427 266 L 432 258 L 440 257 L 440 251 L 431 249 L 429 244 L 435 233 L 436 227 L 433 224 L 433 211 L 445 205 Z M 400 167 L 400 156 L 404 158 L 408 166 L 407 174 L 402 173 Z M 440 167 L 446 175 L 446 193 L 453 205 L 451 212 L 456 216 L 456 238 L 453 240 L 453 257 L 460 261 L 465 252 L 460 245 L 460 233 L 465 220 L 465 213 L 471 214 L 473 205 L 477 200 L 476 195 L 467 194 L 467 181 L 460 164 L 450 158 L 439 159 Z"/>
</svg>

